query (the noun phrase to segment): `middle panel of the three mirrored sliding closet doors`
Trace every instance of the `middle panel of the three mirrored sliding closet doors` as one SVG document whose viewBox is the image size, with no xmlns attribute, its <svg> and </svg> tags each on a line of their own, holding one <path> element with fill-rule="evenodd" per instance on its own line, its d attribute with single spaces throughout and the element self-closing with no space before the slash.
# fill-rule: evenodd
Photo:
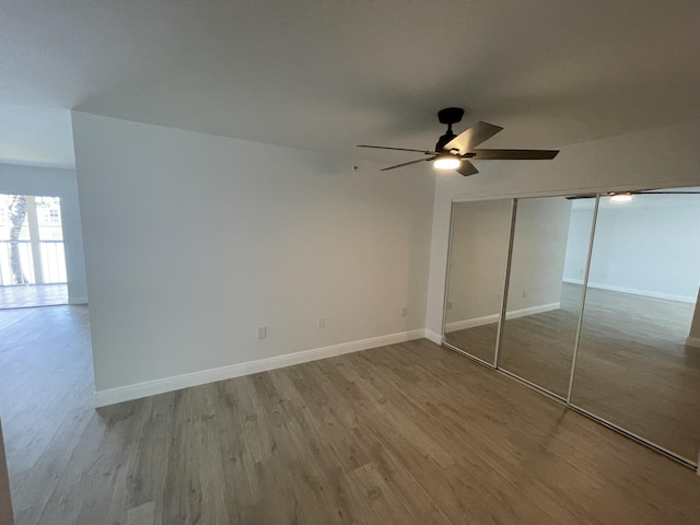
<svg viewBox="0 0 700 525">
<path fill-rule="evenodd" d="M 520 199 L 499 368 L 565 398 L 595 199 Z"/>
</svg>

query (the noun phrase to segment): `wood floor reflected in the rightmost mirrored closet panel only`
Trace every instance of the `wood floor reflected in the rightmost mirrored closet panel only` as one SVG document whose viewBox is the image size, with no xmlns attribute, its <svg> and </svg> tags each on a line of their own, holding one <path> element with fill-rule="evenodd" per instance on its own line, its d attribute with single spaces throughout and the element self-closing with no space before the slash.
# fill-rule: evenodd
<svg viewBox="0 0 700 525">
<path fill-rule="evenodd" d="M 590 289 L 571 401 L 691 462 L 700 444 L 695 305 Z"/>
</svg>

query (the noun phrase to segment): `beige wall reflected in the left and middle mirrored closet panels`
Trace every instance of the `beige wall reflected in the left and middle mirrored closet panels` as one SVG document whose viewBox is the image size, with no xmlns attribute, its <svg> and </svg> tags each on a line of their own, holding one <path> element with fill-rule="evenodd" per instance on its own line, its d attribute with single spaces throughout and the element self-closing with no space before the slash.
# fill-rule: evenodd
<svg viewBox="0 0 700 525">
<path fill-rule="evenodd" d="M 511 209 L 511 199 L 454 203 L 445 331 L 500 316 Z M 559 307 L 570 210 L 564 198 L 518 202 L 506 315 Z"/>
</svg>

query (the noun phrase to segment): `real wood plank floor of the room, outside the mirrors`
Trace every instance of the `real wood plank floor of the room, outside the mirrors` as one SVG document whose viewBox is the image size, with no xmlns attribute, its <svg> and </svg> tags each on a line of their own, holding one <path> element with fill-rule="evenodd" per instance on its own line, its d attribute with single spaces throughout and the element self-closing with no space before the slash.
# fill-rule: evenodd
<svg viewBox="0 0 700 525">
<path fill-rule="evenodd" d="M 23 524 L 697 524 L 700 477 L 427 340 L 94 410 L 86 308 L 0 315 Z"/>
</svg>

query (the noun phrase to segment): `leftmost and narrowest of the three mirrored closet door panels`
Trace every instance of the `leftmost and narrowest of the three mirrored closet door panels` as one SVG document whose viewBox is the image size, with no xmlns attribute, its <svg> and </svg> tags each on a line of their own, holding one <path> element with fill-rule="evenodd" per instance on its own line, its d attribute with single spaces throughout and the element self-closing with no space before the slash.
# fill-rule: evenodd
<svg viewBox="0 0 700 525">
<path fill-rule="evenodd" d="M 491 365 L 512 207 L 512 200 L 488 200 L 455 202 L 452 208 L 445 342 Z"/>
</svg>

